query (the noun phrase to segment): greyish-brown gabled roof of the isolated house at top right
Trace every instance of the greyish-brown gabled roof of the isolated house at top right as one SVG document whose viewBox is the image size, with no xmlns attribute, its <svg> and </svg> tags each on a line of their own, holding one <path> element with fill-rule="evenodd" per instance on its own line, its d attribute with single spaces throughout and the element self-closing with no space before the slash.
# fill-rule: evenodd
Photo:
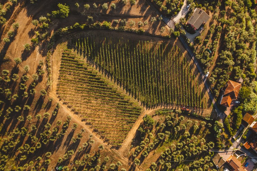
<svg viewBox="0 0 257 171">
<path fill-rule="evenodd" d="M 196 29 L 199 29 L 202 23 L 206 23 L 209 19 L 210 19 L 210 16 L 206 14 L 205 11 L 203 11 L 200 8 L 196 8 L 194 10 L 193 15 L 188 19 L 187 22 L 193 25 Z"/>
</svg>

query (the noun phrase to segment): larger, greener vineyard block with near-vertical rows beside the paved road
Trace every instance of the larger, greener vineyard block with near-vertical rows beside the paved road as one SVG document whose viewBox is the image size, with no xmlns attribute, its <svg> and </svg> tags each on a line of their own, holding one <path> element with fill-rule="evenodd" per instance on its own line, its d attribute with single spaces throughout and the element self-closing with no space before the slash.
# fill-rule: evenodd
<svg viewBox="0 0 257 171">
<path fill-rule="evenodd" d="M 209 108 L 206 90 L 177 46 L 101 33 L 81 35 L 71 44 L 148 107 L 172 104 Z"/>
</svg>

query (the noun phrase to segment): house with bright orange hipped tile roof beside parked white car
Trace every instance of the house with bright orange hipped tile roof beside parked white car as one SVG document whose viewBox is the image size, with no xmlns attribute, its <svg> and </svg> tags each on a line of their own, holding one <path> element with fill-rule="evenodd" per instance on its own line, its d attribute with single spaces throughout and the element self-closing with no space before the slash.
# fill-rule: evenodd
<svg viewBox="0 0 257 171">
<path fill-rule="evenodd" d="M 242 80 L 238 80 L 238 81 L 242 81 Z M 220 104 L 226 107 L 230 107 L 232 99 L 237 98 L 240 88 L 241 88 L 240 82 L 228 80 L 224 93 L 221 96 Z"/>
</svg>

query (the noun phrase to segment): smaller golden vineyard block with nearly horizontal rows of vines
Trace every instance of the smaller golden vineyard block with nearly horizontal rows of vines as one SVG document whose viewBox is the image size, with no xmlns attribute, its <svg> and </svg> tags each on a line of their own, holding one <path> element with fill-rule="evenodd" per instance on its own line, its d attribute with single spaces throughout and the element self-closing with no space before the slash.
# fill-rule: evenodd
<svg viewBox="0 0 257 171">
<path fill-rule="evenodd" d="M 64 50 L 57 94 L 105 140 L 119 146 L 141 113 L 141 107 L 70 50 Z"/>
</svg>

